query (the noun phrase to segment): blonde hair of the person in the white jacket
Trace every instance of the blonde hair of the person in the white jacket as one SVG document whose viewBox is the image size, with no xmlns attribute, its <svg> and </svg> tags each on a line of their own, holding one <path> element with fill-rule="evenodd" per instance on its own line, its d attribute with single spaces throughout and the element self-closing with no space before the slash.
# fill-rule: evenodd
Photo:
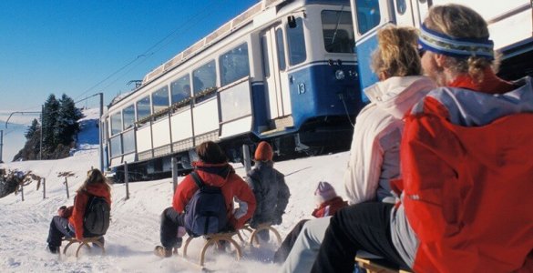
<svg viewBox="0 0 533 273">
<path fill-rule="evenodd" d="M 422 65 L 418 56 L 415 28 L 386 27 L 378 31 L 378 47 L 372 55 L 374 73 L 385 76 L 418 76 Z"/>
</svg>

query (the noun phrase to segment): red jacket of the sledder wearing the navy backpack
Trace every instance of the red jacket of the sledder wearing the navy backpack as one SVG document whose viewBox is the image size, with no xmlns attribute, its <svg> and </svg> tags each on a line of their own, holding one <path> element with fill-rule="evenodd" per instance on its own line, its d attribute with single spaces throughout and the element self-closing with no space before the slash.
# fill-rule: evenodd
<svg viewBox="0 0 533 273">
<path fill-rule="evenodd" d="M 195 167 L 195 171 L 205 184 L 221 187 L 222 195 L 226 199 L 226 209 L 231 226 L 235 229 L 241 228 L 250 219 L 256 206 L 255 197 L 248 184 L 236 175 L 233 167 L 227 163 L 205 164 L 203 162 L 195 162 Z M 172 200 L 172 207 L 178 212 L 183 212 L 185 206 L 197 190 L 198 187 L 190 175 L 183 178 L 176 188 L 176 193 Z M 237 197 L 241 203 L 244 202 L 248 206 L 246 214 L 239 219 L 233 216 L 233 197 Z"/>
</svg>

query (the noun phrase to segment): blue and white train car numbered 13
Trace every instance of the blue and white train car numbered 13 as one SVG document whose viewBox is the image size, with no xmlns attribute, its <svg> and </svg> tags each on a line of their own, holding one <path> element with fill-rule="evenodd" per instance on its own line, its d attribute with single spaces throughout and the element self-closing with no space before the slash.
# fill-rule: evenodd
<svg viewBox="0 0 533 273">
<path fill-rule="evenodd" d="M 349 0 L 263 0 L 108 106 L 104 165 L 168 175 L 171 157 L 190 169 L 207 140 L 235 162 L 260 140 L 278 156 L 346 149 L 358 86 Z"/>
</svg>

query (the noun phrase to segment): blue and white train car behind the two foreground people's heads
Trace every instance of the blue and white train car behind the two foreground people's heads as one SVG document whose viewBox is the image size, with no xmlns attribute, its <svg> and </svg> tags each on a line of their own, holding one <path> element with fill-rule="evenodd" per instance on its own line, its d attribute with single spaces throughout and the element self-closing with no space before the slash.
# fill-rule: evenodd
<svg viewBox="0 0 533 273">
<path fill-rule="evenodd" d="M 376 33 L 386 25 L 419 27 L 432 5 L 466 5 L 488 23 L 490 38 L 500 53 L 499 76 L 518 79 L 533 75 L 532 0 L 351 0 L 355 47 L 361 88 L 377 81 L 370 71 L 370 55 L 377 46 Z"/>
</svg>

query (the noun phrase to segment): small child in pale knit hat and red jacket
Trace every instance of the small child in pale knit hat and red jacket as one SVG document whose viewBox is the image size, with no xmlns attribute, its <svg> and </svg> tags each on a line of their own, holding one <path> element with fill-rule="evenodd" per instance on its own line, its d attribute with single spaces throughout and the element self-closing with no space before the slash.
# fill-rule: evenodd
<svg viewBox="0 0 533 273">
<path fill-rule="evenodd" d="M 317 218 L 333 216 L 337 210 L 348 206 L 348 202 L 344 201 L 343 197 L 337 196 L 333 186 L 325 181 L 318 183 L 318 187 L 314 191 L 314 198 L 318 207 L 313 210 L 311 215 Z M 287 256 L 291 252 L 292 246 L 294 246 L 296 238 L 302 232 L 303 225 L 307 221 L 309 219 L 303 219 L 296 226 L 292 227 L 291 232 L 282 241 L 280 248 L 274 253 L 274 263 L 285 262 L 285 259 L 287 259 Z"/>
</svg>

